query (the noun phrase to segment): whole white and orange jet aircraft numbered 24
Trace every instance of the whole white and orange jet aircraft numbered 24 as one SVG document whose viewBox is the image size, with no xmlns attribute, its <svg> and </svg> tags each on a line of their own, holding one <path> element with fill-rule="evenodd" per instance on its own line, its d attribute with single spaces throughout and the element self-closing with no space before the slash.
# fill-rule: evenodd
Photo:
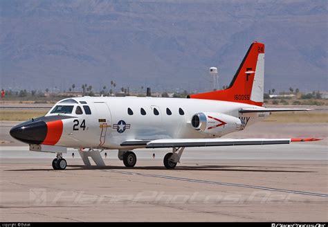
<svg viewBox="0 0 328 227">
<path fill-rule="evenodd" d="M 220 138 L 264 120 L 274 111 L 310 109 L 264 108 L 264 44 L 253 42 L 230 86 L 188 98 L 79 97 L 57 102 L 40 118 L 12 127 L 10 135 L 30 151 L 53 152 L 53 169 L 64 170 L 67 147 L 79 149 L 85 165 L 104 165 L 100 151 L 118 149 L 125 166 L 134 167 L 138 148 L 172 147 L 164 158 L 176 167 L 185 147 L 272 145 L 314 138 Z"/>
</svg>

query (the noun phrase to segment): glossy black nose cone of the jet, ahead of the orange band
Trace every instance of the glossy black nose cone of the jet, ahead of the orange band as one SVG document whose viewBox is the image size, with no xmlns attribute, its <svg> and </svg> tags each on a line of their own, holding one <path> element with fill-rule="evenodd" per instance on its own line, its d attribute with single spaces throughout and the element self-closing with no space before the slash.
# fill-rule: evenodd
<svg viewBox="0 0 328 227">
<path fill-rule="evenodd" d="M 10 129 L 10 136 L 24 143 L 40 144 L 46 138 L 47 125 L 43 120 L 28 121 Z"/>
</svg>

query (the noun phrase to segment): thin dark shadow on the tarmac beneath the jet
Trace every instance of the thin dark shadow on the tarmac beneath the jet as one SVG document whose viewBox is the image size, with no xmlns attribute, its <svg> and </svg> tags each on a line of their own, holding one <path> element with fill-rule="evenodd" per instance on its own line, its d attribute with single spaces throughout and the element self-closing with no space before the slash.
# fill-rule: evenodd
<svg viewBox="0 0 328 227">
<path fill-rule="evenodd" d="M 236 168 L 236 167 L 243 167 L 243 168 Z M 252 169 L 250 169 L 252 167 Z M 257 170 L 254 168 L 262 168 L 262 170 Z M 263 170 L 263 168 L 265 168 Z M 314 171 L 304 171 L 304 170 L 273 170 L 270 169 L 272 167 L 262 167 L 262 166 L 232 166 L 232 165 L 197 165 L 197 166 L 179 166 L 176 167 L 174 170 L 167 170 L 165 167 L 161 166 L 145 166 L 145 167 L 125 167 L 125 166 L 96 166 L 96 165 L 67 165 L 66 170 L 63 171 L 71 171 L 71 170 L 163 170 L 163 171 L 217 171 L 217 172 L 224 172 L 224 171 L 235 171 L 235 172 L 314 172 Z M 52 167 L 48 169 L 20 169 L 20 170 L 5 170 L 5 171 L 48 171 L 52 170 Z M 62 170 L 57 170 L 62 171 Z"/>
</svg>

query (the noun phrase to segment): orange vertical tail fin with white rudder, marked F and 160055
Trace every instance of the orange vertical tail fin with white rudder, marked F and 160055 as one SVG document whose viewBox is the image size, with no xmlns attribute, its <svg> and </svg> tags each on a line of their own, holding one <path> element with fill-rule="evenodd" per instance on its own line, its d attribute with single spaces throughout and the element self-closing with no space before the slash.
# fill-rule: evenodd
<svg viewBox="0 0 328 227">
<path fill-rule="evenodd" d="M 242 102 L 262 107 L 263 96 L 264 44 L 253 42 L 227 89 L 193 94 L 188 98 Z"/>
</svg>

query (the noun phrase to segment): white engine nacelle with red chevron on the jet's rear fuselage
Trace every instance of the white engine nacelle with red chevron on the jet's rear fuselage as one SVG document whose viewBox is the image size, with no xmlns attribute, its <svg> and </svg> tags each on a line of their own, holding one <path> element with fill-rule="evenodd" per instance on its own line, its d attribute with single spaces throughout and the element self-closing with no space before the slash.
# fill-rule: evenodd
<svg viewBox="0 0 328 227">
<path fill-rule="evenodd" d="M 192 127 L 212 136 L 223 136 L 233 131 L 240 131 L 245 125 L 244 120 L 227 114 L 206 112 L 192 116 Z"/>
</svg>

